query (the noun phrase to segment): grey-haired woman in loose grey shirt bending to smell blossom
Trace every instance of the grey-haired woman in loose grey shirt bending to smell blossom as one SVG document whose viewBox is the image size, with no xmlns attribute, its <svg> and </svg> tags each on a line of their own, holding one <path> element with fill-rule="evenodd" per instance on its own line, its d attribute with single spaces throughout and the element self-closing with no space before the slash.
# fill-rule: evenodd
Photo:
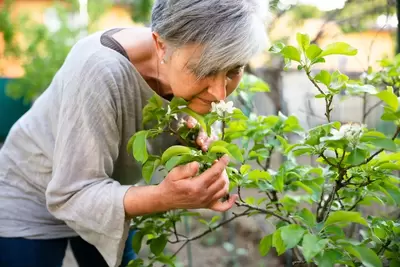
<svg viewBox="0 0 400 267">
<path fill-rule="evenodd" d="M 132 186 L 141 169 L 125 148 L 154 93 L 204 114 L 235 90 L 265 44 L 260 10 L 256 0 L 158 0 L 151 29 L 79 41 L 0 150 L 0 266 L 61 266 L 68 241 L 80 266 L 121 266 L 132 217 L 230 209 L 226 157 L 198 177 L 191 163 Z"/>
</svg>

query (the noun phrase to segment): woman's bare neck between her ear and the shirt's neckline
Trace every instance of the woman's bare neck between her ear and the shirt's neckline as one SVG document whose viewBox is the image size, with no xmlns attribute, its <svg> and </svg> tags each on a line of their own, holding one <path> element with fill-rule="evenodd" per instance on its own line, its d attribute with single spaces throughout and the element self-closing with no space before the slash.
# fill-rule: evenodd
<svg viewBox="0 0 400 267">
<path fill-rule="evenodd" d="M 135 36 L 135 38 L 132 38 Z M 130 28 L 113 35 L 128 54 L 130 62 L 135 66 L 147 84 L 160 96 L 169 99 L 172 94 L 165 67 L 160 64 L 153 42 L 151 30 L 148 28 Z"/>
</svg>

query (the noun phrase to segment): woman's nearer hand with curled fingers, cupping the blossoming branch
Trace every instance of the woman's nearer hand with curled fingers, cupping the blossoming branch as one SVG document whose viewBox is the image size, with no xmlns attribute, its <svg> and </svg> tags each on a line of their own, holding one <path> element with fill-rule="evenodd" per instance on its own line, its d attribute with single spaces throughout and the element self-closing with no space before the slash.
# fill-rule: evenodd
<svg viewBox="0 0 400 267">
<path fill-rule="evenodd" d="M 175 167 L 158 185 L 162 199 L 170 209 L 209 208 L 214 211 L 229 210 L 237 195 L 222 202 L 228 194 L 229 180 L 225 168 L 228 156 L 223 156 L 211 168 L 196 176 L 197 162 Z"/>
</svg>

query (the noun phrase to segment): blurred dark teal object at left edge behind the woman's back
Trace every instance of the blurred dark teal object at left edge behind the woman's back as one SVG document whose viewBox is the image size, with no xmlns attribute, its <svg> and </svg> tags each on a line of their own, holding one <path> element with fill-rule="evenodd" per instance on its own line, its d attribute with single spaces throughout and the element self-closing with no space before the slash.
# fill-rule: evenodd
<svg viewBox="0 0 400 267">
<path fill-rule="evenodd" d="M 6 85 L 11 79 L 0 77 L 0 142 L 4 142 L 13 124 L 27 112 L 30 105 L 6 95 Z"/>
</svg>

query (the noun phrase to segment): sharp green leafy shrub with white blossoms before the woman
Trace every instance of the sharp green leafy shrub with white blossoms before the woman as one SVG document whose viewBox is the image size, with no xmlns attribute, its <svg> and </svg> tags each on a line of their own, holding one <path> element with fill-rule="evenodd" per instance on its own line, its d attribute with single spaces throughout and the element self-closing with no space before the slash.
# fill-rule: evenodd
<svg viewBox="0 0 400 267">
<path fill-rule="evenodd" d="M 400 204 L 400 178 L 395 175 L 400 169 L 396 139 L 400 132 L 400 113 L 394 87 L 378 86 L 377 81 L 385 75 L 385 70 L 381 76 L 369 73 L 374 83 L 352 81 L 339 71 L 320 71 L 312 75 L 314 65 L 323 63 L 325 57 L 334 54 L 351 56 L 357 50 L 342 42 L 321 48 L 310 44 L 310 38 L 305 34 L 298 34 L 297 41 L 297 47 L 278 43 L 270 51 L 283 56 L 287 64 L 296 62 L 305 72 L 316 87 L 316 98 L 326 103 L 325 124 L 304 130 L 295 116 L 246 116 L 238 109 L 229 109 L 226 103 L 218 104 L 212 112 L 200 116 L 188 112 L 187 103 L 182 99 L 175 98 L 170 105 L 162 106 L 155 95 L 144 112 L 145 122 L 153 122 L 155 126 L 136 133 L 128 151 L 132 151 L 135 159 L 148 169 L 146 181 L 150 180 L 154 166 L 171 170 L 174 166 L 198 161 L 202 165 L 200 172 L 203 172 L 215 159 L 228 154 L 232 158 L 227 168 L 230 190 L 237 189 L 240 194 L 246 188 L 256 188 L 265 194 L 259 199 L 240 198 L 236 205 L 246 210 L 235 214 L 233 219 L 262 214 L 276 226 L 273 233 L 260 241 L 262 256 L 275 248 L 278 255 L 293 250 L 295 261 L 316 266 L 379 267 L 384 262 L 396 266 L 400 262 L 400 223 L 357 209 L 372 204 L 394 207 Z M 257 83 L 255 77 L 248 76 L 239 91 L 253 88 Z M 263 84 L 255 87 L 261 91 L 268 89 Z M 385 109 L 382 118 L 395 125 L 395 133 L 387 136 L 366 125 L 332 122 L 332 100 L 343 92 L 381 99 Z M 212 124 L 222 122 L 220 140 L 208 151 L 201 151 L 192 141 L 196 132 L 188 129 L 185 123 L 178 124 L 177 129 L 172 126 L 183 113 L 196 116 L 208 132 L 211 132 Z M 165 131 L 180 139 L 182 145 L 167 149 L 161 156 L 146 156 L 145 140 Z M 293 135 L 297 136 L 295 143 L 289 139 Z M 271 170 L 273 153 L 280 153 L 287 159 L 276 170 Z M 299 164 L 298 158 L 304 154 L 315 156 L 316 166 Z M 252 167 L 254 164 L 259 167 Z M 138 237 L 133 246 L 139 251 L 146 239 L 151 255 L 147 261 L 137 260 L 134 264 L 140 264 L 132 266 L 165 262 L 168 256 L 162 253 L 166 240 L 187 244 L 199 238 L 182 237 L 176 232 L 175 226 L 183 216 L 194 216 L 205 225 L 205 232 L 200 237 L 226 223 L 219 216 L 205 220 L 186 210 L 137 217 L 134 225 Z M 360 240 L 353 239 L 349 233 L 352 224 L 361 227 Z M 160 255 L 163 258 L 158 258 Z M 168 259 L 173 261 L 175 256 L 170 255 Z M 173 266 L 172 262 L 169 264 Z"/>
</svg>

